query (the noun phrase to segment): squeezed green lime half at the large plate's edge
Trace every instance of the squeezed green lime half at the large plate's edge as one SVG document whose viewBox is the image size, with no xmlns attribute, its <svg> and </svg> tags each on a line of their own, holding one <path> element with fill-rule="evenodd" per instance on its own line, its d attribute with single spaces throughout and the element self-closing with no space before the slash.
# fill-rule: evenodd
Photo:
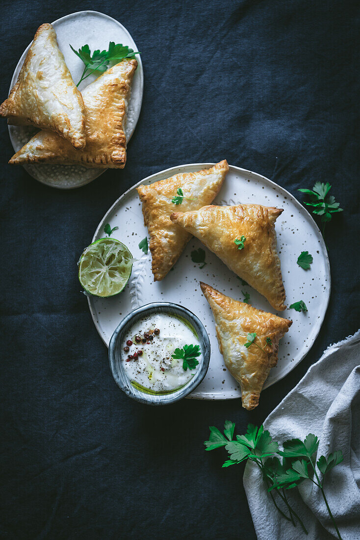
<svg viewBox="0 0 360 540">
<path fill-rule="evenodd" d="M 79 261 L 79 281 L 85 291 L 107 298 L 121 293 L 131 275 L 133 257 L 115 238 L 100 238 L 85 248 Z"/>
</svg>

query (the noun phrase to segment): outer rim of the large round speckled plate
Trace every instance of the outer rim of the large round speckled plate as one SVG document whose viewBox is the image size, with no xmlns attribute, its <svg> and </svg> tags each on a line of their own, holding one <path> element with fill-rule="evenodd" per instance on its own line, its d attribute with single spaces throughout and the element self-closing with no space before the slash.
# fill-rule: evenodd
<svg viewBox="0 0 360 540">
<path fill-rule="evenodd" d="M 163 175 L 163 174 L 168 174 L 170 173 L 171 171 L 173 171 L 172 174 L 169 174 L 169 177 L 173 176 L 173 174 L 181 174 L 181 170 L 185 167 L 194 167 L 194 171 L 193 172 L 196 172 L 196 171 L 200 171 L 202 168 L 207 168 L 207 167 L 212 167 L 214 166 L 215 163 L 187 163 L 187 164 L 184 164 L 184 165 L 177 165 L 177 166 L 173 166 L 173 167 L 168 167 L 162 171 L 159 171 L 157 173 L 153 173 L 153 174 L 150 174 L 150 176 L 147 176 L 146 178 L 143 178 L 142 180 L 139 180 L 136 184 L 133 184 L 130 188 L 128 188 L 123 194 L 120 195 L 120 197 L 118 197 L 116 199 L 116 201 L 114 201 L 114 203 L 111 205 L 110 208 L 108 208 L 107 212 L 105 212 L 103 218 L 100 220 L 99 222 L 99 225 L 97 226 L 96 228 L 96 231 L 95 233 L 93 234 L 93 237 L 92 237 L 92 242 L 94 242 L 96 240 L 96 237 L 98 235 L 98 232 L 100 231 L 101 227 L 103 226 L 108 214 L 110 214 L 112 211 L 113 211 L 113 208 L 117 206 L 117 204 L 121 201 L 121 199 L 123 199 L 124 197 L 126 197 L 126 195 L 128 195 L 131 191 L 133 191 L 136 187 L 138 187 L 139 185 L 141 184 L 152 184 L 152 181 L 153 180 L 154 182 L 157 181 L 157 177 L 159 177 L 160 175 Z M 272 381 L 270 382 L 270 384 L 267 384 L 268 380 L 265 381 L 264 383 L 264 386 L 263 386 L 263 390 L 265 390 L 266 388 L 269 388 L 270 386 L 273 386 L 273 384 L 277 383 L 277 382 L 280 382 L 282 379 L 284 379 L 284 377 L 286 377 L 289 373 L 291 373 L 293 371 L 293 369 L 298 366 L 300 364 L 300 362 L 303 361 L 303 359 L 305 358 L 305 356 L 307 356 L 311 350 L 311 348 L 313 347 L 314 343 L 315 343 L 315 340 L 318 336 L 318 334 L 320 333 L 320 330 L 322 328 L 322 325 L 323 325 L 323 322 L 324 322 L 324 319 L 325 319 L 325 315 L 328 311 L 328 307 L 329 307 L 329 301 L 330 301 L 330 296 L 331 296 L 331 271 L 330 271 L 330 260 L 329 260 L 329 253 L 327 251 L 327 248 L 326 248 L 326 244 L 325 244 L 325 240 L 323 238 L 323 235 L 320 231 L 320 228 L 317 226 L 316 224 L 316 221 L 314 220 L 313 216 L 309 213 L 309 211 L 307 210 L 307 208 L 305 208 L 301 203 L 300 201 L 298 201 L 295 197 L 295 195 L 293 195 L 292 193 L 290 193 L 288 190 L 286 190 L 284 187 L 280 186 L 279 184 L 276 184 L 273 180 L 270 180 L 269 178 L 267 178 L 266 176 L 263 176 L 263 174 L 260 174 L 260 173 L 257 173 L 257 172 L 254 172 L 254 171 L 249 171 L 248 169 L 244 169 L 242 167 L 237 167 L 236 165 L 229 165 L 229 171 L 230 169 L 233 169 L 235 171 L 240 171 L 242 174 L 246 175 L 246 174 L 252 174 L 252 175 L 255 175 L 257 177 L 260 177 L 262 180 L 265 180 L 267 182 L 270 183 L 270 185 L 276 187 L 276 188 L 280 188 L 281 191 L 283 191 L 284 194 L 286 195 L 289 195 L 289 197 L 291 199 L 294 199 L 295 201 L 295 204 L 301 208 L 301 211 L 304 212 L 304 215 L 305 217 L 310 221 L 311 225 L 315 226 L 315 231 L 317 232 L 317 235 L 318 235 L 318 238 L 320 239 L 320 242 L 321 242 L 321 245 L 322 245 L 322 248 L 323 248 L 323 252 L 325 253 L 325 271 L 327 272 L 328 274 L 328 279 L 329 279 L 329 286 L 327 288 L 327 299 L 326 299 L 326 305 L 325 305 L 325 309 L 324 309 L 324 313 L 323 313 L 323 316 L 322 316 L 322 321 L 321 321 L 321 324 L 319 325 L 318 327 L 318 330 L 316 332 L 316 334 L 313 336 L 313 338 L 311 339 L 311 341 L 309 342 L 309 347 L 306 348 L 304 354 L 300 357 L 300 359 L 295 363 L 295 362 L 291 362 L 289 364 L 289 367 L 290 369 L 288 370 L 287 373 L 285 373 L 280 379 L 277 379 L 276 381 Z M 175 171 L 177 171 L 175 173 Z M 101 338 L 101 340 L 103 340 L 103 342 L 105 343 L 105 346 L 108 348 L 108 345 L 106 343 L 106 341 L 104 340 L 103 338 L 103 335 L 101 335 L 101 333 L 99 332 L 99 328 L 98 328 L 98 324 L 96 322 L 96 314 L 94 312 L 94 309 L 92 307 L 92 301 L 93 297 L 92 296 L 87 296 L 87 303 L 89 305 L 89 309 L 90 309 L 90 313 L 91 313 L 91 318 L 92 318 L 92 321 L 94 323 L 94 326 Z M 198 400 L 214 400 L 214 401 L 217 401 L 217 400 L 233 400 L 233 399 L 239 399 L 239 396 L 223 396 L 223 397 L 219 397 L 217 394 L 214 394 L 213 392 L 201 392 L 201 393 L 196 393 L 193 392 L 192 394 L 190 394 L 189 396 L 187 396 L 188 399 L 198 399 Z"/>
</svg>

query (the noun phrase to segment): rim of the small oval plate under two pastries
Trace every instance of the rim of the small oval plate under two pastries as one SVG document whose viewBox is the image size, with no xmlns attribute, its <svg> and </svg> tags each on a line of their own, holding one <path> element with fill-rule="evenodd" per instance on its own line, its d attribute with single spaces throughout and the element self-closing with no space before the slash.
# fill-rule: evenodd
<svg viewBox="0 0 360 540">
<path fill-rule="evenodd" d="M 114 17 L 111 17 L 110 15 L 107 15 L 106 13 L 103 13 L 101 11 L 95 11 L 95 10 L 91 10 L 91 9 L 85 9 L 83 11 L 74 11 L 73 13 L 68 13 L 67 15 L 64 15 L 63 17 L 59 17 L 58 19 L 56 19 L 56 21 L 53 21 L 52 23 L 50 24 L 55 24 L 55 23 L 59 23 L 61 21 L 63 21 L 63 19 L 67 19 L 68 17 L 72 17 L 74 15 L 83 15 L 83 14 L 96 14 L 96 15 L 100 15 L 101 17 L 105 17 L 107 19 L 110 19 L 111 21 L 114 21 L 116 22 L 119 26 L 121 26 L 121 29 L 126 33 L 126 35 L 128 37 L 130 37 L 130 39 L 134 42 L 134 44 L 136 45 L 135 43 L 135 40 L 134 38 L 132 37 L 131 33 L 125 28 L 125 26 L 123 24 L 121 24 L 119 21 L 117 21 L 117 19 L 114 19 Z M 26 47 L 26 49 L 24 50 L 24 52 L 22 53 L 21 57 L 19 58 L 19 61 L 18 63 L 16 64 L 16 67 L 15 69 L 13 70 L 13 73 L 12 73 L 12 77 L 11 77 L 11 82 L 10 82 L 10 87 L 9 87 L 9 92 L 8 92 L 8 96 L 10 95 L 10 92 L 11 92 L 11 89 L 13 88 L 13 86 L 15 85 L 16 83 L 16 80 L 17 80 L 17 77 L 18 75 L 16 76 L 16 73 L 18 71 L 18 68 L 19 68 L 19 71 L 21 69 L 21 66 L 23 65 L 24 63 L 24 60 L 25 60 L 25 57 L 26 55 L 28 54 L 28 51 L 31 47 L 31 44 L 33 42 L 33 39 L 31 40 L 31 42 L 29 43 L 29 45 Z M 141 94 L 141 98 L 140 98 L 140 106 L 139 106 L 139 112 L 138 112 L 138 115 L 137 115 L 137 119 L 136 119 L 136 122 L 134 124 L 134 129 L 130 135 L 130 137 L 127 139 L 126 141 L 126 146 L 128 145 L 131 137 L 133 136 L 133 133 L 135 131 L 135 128 L 138 124 L 138 121 L 139 121 L 139 118 L 140 118 L 140 112 L 141 112 L 141 107 L 142 107 L 142 99 L 144 97 L 144 68 L 142 66 L 142 61 L 141 61 L 141 56 L 139 55 L 139 57 L 137 58 L 138 60 L 138 65 L 139 65 L 139 68 L 140 68 L 140 94 Z M 8 124 L 8 132 L 9 132 L 9 138 L 10 138 L 10 142 L 11 142 L 11 146 L 12 146 L 12 149 L 14 152 L 17 152 L 17 150 L 15 149 L 15 145 L 14 145 L 14 142 L 13 142 L 13 138 L 12 138 L 12 134 L 11 134 L 11 127 L 14 127 L 10 124 Z M 54 187 L 55 189 L 57 190 L 74 190 L 74 189 L 77 189 L 78 187 L 83 187 L 83 186 L 86 186 L 87 184 L 90 184 L 93 180 L 96 180 L 97 178 L 99 178 L 99 176 L 101 176 L 101 174 L 103 174 L 105 171 L 107 171 L 108 169 L 107 168 L 104 168 L 104 169 L 99 169 L 99 174 L 95 177 L 95 178 L 92 178 L 91 180 L 88 180 L 88 181 L 85 181 L 83 184 L 79 184 L 77 186 L 58 186 L 58 185 L 53 185 L 53 184 L 49 184 L 47 182 L 44 182 L 43 180 L 39 180 L 38 178 L 36 178 L 32 172 L 31 172 L 31 169 L 29 170 L 29 167 L 25 164 L 25 165 L 22 165 L 22 167 L 25 169 L 25 171 L 35 180 L 37 180 L 38 182 L 40 182 L 40 184 L 43 184 L 45 186 L 49 186 L 49 187 Z"/>
</svg>

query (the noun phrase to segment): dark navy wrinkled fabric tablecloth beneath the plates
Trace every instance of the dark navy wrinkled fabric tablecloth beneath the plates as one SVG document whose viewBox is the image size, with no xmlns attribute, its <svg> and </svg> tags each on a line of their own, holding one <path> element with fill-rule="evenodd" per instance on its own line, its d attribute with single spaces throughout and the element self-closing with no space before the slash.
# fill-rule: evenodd
<svg viewBox="0 0 360 540">
<path fill-rule="evenodd" d="M 330 343 L 358 328 L 358 3 L 3 0 L 1 99 L 38 26 L 84 9 L 132 34 L 144 100 L 125 169 L 73 191 L 7 165 L 0 123 L 0 537 L 253 540 L 243 465 L 222 470 L 225 452 L 205 453 L 202 441 L 225 419 L 237 433 L 261 423 Z M 327 230 L 328 312 L 308 356 L 253 412 L 239 400 L 150 408 L 114 383 L 76 263 L 128 187 L 223 158 L 300 200 L 298 187 L 332 184 L 344 212 Z"/>
</svg>

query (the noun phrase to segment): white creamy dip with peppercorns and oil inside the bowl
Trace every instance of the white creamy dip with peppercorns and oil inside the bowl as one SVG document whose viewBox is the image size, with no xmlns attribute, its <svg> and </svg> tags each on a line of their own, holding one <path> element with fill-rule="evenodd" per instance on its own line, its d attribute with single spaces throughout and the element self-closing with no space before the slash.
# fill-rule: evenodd
<svg viewBox="0 0 360 540">
<path fill-rule="evenodd" d="M 176 348 L 185 345 L 199 346 L 199 364 L 194 369 L 185 370 L 183 360 L 172 357 Z M 148 315 L 128 330 L 121 344 L 121 362 L 134 386 L 152 393 L 172 392 L 192 379 L 199 368 L 200 342 L 184 319 L 169 313 Z"/>
</svg>

